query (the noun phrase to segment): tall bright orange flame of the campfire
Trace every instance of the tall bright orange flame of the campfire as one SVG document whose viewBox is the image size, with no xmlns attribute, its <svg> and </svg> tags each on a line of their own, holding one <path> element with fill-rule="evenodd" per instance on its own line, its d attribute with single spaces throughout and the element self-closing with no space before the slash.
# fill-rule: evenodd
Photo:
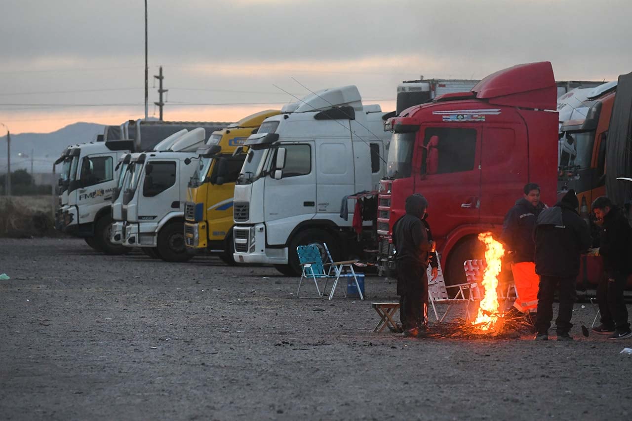
<svg viewBox="0 0 632 421">
<path fill-rule="evenodd" d="M 480 325 L 480 330 L 487 331 L 494 327 L 498 320 L 498 274 L 502 269 L 502 256 L 505 253 L 502 244 L 494 240 L 492 233 L 480 233 L 478 240 L 485 243 L 485 262 L 483 271 L 483 289 L 485 296 L 478 307 L 478 315 L 472 324 Z"/>
</svg>

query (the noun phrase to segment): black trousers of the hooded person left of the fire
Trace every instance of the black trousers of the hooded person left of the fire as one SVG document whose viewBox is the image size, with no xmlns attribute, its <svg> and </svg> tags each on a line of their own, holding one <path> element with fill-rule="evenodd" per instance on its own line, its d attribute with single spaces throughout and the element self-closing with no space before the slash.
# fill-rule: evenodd
<svg viewBox="0 0 632 421">
<path fill-rule="evenodd" d="M 399 320 L 404 330 L 428 324 L 428 274 L 423 265 L 396 262 Z"/>
</svg>

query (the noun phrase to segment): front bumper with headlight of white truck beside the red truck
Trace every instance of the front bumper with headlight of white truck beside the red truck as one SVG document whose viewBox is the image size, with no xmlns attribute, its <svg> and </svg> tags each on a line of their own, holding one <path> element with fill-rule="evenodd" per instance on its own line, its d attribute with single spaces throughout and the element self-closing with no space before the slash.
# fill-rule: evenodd
<svg viewBox="0 0 632 421">
<path fill-rule="evenodd" d="M 288 264 L 288 248 L 270 248 L 265 245 L 265 224 L 235 226 L 233 228 L 235 252 L 239 263 Z"/>
</svg>

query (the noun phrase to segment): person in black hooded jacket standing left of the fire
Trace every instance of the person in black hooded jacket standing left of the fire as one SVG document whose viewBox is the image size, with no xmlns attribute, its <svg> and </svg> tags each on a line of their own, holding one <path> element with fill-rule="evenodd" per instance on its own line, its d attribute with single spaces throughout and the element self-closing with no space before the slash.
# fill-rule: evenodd
<svg viewBox="0 0 632 421">
<path fill-rule="evenodd" d="M 404 336 L 424 336 L 428 326 L 426 270 L 434 241 L 422 222 L 428 201 L 420 194 L 406 198 L 406 214 L 393 226 L 395 267 L 398 273 L 399 317 Z"/>
</svg>

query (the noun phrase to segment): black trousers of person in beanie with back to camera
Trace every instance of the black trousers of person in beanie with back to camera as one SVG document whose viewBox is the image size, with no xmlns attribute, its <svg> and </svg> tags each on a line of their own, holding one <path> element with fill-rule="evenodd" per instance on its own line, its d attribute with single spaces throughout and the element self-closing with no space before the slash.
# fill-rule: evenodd
<svg viewBox="0 0 632 421">
<path fill-rule="evenodd" d="M 557 310 L 557 334 L 568 334 L 571 331 L 571 317 L 573 317 L 573 303 L 575 302 L 576 276 L 559 278 L 557 276 L 540 276 L 540 290 L 538 291 L 538 315 L 535 328 L 538 333 L 549 333 L 553 319 L 553 295 L 555 290 L 559 294 L 559 310 Z"/>
</svg>

